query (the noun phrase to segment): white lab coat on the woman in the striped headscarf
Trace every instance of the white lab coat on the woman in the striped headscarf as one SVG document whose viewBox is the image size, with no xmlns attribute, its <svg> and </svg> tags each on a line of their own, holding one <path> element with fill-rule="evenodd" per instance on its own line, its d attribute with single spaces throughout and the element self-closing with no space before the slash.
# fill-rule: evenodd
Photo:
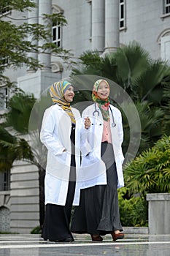
<svg viewBox="0 0 170 256">
<path fill-rule="evenodd" d="M 72 112 L 76 119 L 75 160 L 78 170 L 80 167 L 80 147 L 78 145 L 80 145 L 81 117 L 79 110 L 72 108 Z M 40 132 L 40 140 L 47 147 L 45 204 L 52 203 L 61 206 L 66 204 L 72 154 L 71 130 L 71 118 L 61 107 L 55 104 L 45 110 Z M 66 148 L 65 152 L 63 152 L 64 148 Z M 79 200 L 80 189 L 77 189 L 76 185 L 73 204 L 79 205 Z"/>
</svg>

